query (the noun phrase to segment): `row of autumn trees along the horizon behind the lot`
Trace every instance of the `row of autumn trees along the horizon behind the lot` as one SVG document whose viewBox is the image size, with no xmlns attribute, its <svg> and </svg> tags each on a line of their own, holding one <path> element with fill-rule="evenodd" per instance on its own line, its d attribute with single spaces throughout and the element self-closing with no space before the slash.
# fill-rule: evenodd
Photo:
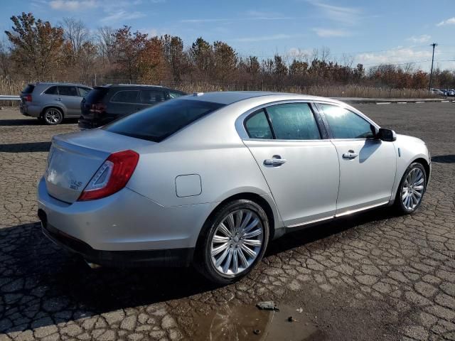
<svg viewBox="0 0 455 341">
<path fill-rule="evenodd" d="M 103 26 L 95 33 L 75 18 L 53 26 L 32 13 L 12 16 L 8 40 L 0 44 L 3 77 L 26 81 L 77 81 L 247 85 L 249 89 L 295 85 L 365 85 L 395 89 L 424 89 L 428 72 L 412 65 L 378 65 L 368 70 L 353 58 L 333 60 L 328 48 L 312 53 L 275 54 L 259 59 L 240 56 L 223 41 L 197 38 L 186 46 L 178 36 L 150 36 L 129 26 Z M 455 87 L 455 73 L 434 71 L 434 87 Z"/>
</svg>

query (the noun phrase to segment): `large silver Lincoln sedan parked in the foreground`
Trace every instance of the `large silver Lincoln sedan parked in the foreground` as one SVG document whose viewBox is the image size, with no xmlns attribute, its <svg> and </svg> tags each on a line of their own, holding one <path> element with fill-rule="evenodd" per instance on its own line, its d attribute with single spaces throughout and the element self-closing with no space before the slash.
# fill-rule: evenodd
<svg viewBox="0 0 455 341">
<path fill-rule="evenodd" d="M 193 262 L 230 283 L 287 232 L 374 207 L 415 212 L 430 160 L 422 140 L 334 99 L 194 94 L 54 136 L 38 216 L 89 263 Z"/>
</svg>

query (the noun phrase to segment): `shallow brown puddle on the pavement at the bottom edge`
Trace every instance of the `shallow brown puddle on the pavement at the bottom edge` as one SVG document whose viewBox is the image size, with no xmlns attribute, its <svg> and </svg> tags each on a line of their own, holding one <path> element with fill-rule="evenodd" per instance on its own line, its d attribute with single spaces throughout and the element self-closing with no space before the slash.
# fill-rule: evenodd
<svg viewBox="0 0 455 341">
<path fill-rule="evenodd" d="M 289 322 L 292 316 L 295 322 Z M 197 341 L 322 341 L 323 332 L 296 308 L 279 305 L 279 311 L 255 305 L 222 305 L 208 315 L 196 315 L 191 340 Z"/>
</svg>

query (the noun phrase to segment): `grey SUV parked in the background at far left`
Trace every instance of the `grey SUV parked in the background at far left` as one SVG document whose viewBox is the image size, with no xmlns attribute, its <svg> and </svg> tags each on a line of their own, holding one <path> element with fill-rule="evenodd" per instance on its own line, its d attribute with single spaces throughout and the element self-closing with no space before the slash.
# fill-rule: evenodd
<svg viewBox="0 0 455 341">
<path fill-rule="evenodd" d="M 65 118 L 80 117 L 80 101 L 90 90 L 80 84 L 28 84 L 21 92 L 20 110 L 25 116 L 36 117 L 46 124 L 60 124 Z"/>
</svg>

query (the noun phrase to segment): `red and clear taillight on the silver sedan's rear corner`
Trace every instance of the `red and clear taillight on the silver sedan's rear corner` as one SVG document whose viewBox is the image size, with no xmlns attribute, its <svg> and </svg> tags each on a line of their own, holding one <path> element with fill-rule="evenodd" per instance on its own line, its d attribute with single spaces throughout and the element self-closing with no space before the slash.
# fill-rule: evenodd
<svg viewBox="0 0 455 341">
<path fill-rule="evenodd" d="M 80 194 L 78 201 L 100 199 L 117 193 L 127 185 L 139 161 L 135 151 L 112 153 Z"/>
</svg>

